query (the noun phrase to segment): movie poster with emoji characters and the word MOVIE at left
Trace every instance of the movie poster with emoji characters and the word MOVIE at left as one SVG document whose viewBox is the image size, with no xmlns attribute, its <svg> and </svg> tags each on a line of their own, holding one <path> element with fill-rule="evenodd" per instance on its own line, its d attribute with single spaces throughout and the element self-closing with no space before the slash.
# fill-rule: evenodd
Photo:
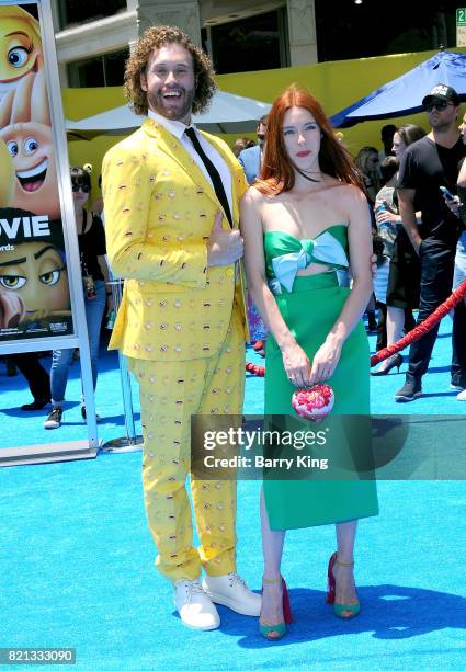
<svg viewBox="0 0 466 671">
<path fill-rule="evenodd" d="M 72 333 L 37 16 L 0 4 L 0 341 Z"/>
</svg>

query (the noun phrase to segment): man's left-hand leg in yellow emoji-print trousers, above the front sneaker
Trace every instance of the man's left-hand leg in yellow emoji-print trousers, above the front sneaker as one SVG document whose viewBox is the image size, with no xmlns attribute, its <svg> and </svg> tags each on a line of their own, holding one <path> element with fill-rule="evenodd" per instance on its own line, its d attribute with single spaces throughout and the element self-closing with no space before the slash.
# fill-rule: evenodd
<svg viewBox="0 0 466 671">
<path fill-rule="evenodd" d="M 190 418 L 197 412 L 208 360 L 128 360 L 139 383 L 144 436 L 143 486 L 149 530 L 157 546 L 157 569 L 167 578 L 194 580 L 201 560 L 193 547 L 190 471 Z"/>
</svg>

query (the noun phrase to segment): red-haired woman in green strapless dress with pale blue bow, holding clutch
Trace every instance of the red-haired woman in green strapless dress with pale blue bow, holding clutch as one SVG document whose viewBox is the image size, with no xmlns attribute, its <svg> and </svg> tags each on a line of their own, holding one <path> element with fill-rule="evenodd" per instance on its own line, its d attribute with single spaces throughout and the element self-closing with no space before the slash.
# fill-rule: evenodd
<svg viewBox="0 0 466 671">
<path fill-rule="evenodd" d="M 271 332 L 265 414 L 294 416 L 296 388 L 328 383 L 333 414 L 367 416 L 370 352 L 361 318 L 372 294 L 368 206 L 349 152 L 305 90 L 291 87 L 272 106 L 262 171 L 241 202 L 241 229 L 249 291 Z M 350 259 L 351 291 L 337 274 Z M 357 474 L 332 481 L 264 478 L 260 628 L 268 639 L 281 638 L 289 621 L 280 568 L 285 531 L 336 524 L 328 601 L 349 618 L 360 609 L 356 521 L 377 512 L 375 482 Z"/>
</svg>

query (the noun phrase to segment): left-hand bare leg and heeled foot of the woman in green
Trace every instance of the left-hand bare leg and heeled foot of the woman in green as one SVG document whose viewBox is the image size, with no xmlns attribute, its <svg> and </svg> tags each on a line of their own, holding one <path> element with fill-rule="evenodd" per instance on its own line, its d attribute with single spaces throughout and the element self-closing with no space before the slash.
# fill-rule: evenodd
<svg viewBox="0 0 466 671">
<path fill-rule="evenodd" d="M 264 578 L 266 580 L 277 580 L 277 582 L 263 583 L 260 619 L 264 625 L 275 625 L 283 622 L 283 589 L 280 565 L 282 562 L 285 532 L 276 532 L 270 528 L 263 490 L 261 490 L 261 527 Z M 273 638 L 273 633 L 269 637 Z"/>
</svg>

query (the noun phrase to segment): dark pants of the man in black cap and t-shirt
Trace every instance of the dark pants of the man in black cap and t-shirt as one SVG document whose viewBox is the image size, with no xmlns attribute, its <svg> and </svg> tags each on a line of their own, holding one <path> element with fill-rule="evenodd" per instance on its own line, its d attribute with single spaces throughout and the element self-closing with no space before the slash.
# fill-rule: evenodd
<svg viewBox="0 0 466 671">
<path fill-rule="evenodd" d="M 424 321 L 452 293 L 455 249 L 423 241 L 420 249 L 421 260 L 421 298 L 419 303 L 418 322 Z M 459 374 L 466 374 L 462 368 L 462 357 L 466 349 L 464 333 L 466 310 L 455 310 L 453 326 L 453 348 L 456 352 L 455 365 Z M 407 377 L 420 379 L 429 367 L 432 350 L 435 344 L 440 325 L 412 343 L 409 350 L 409 368 Z M 458 340 L 462 337 L 463 341 Z M 452 367 L 453 373 L 453 367 Z"/>
</svg>

